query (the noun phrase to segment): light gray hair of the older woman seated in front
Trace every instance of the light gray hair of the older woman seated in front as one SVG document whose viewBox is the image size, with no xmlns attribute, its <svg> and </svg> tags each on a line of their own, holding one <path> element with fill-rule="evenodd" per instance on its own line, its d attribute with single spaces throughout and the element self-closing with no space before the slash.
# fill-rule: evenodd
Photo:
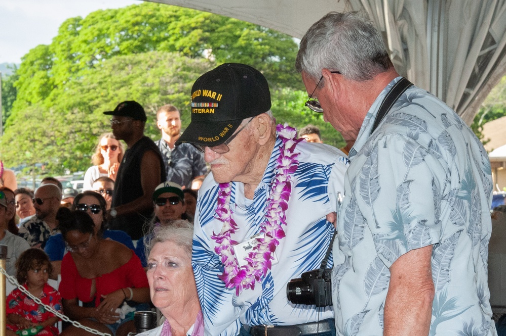
<svg viewBox="0 0 506 336">
<path fill-rule="evenodd" d="M 150 238 L 147 239 L 148 237 Z M 191 259 L 192 239 L 193 226 L 187 220 L 178 219 L 170 222 L 169 225 L 156 226 L 151 234 L 146 235 L 146 256 L 149 256 L 155 244 L 170 242 L 181 247 Z"/>
</svg>

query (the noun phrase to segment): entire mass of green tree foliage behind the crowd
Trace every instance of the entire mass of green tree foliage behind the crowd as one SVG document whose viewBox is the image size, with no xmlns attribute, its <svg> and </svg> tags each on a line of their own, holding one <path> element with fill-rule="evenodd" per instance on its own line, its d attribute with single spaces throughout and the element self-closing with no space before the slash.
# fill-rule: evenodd
<svg viewBox="0 0 506 336">
<path fill-rule="evenodd" d="M 343 146 L 332 126 L 304 107 L 296 53 L 288 35 L 161 4 L 67 19 L 50 45 L 22 58 L 11 81 L 17 95 L 0 140 L 2 159 L 8 166 L 44 163 L 52 174 L 85 170 L 97 137 L 110 131 L 102 112 L 125 100 L 144 106 L 152 138 L 160 137 L 154 115 L 164 104 L 181 110 L 184 128 L 194 80 L 224 62 L 246 63 L 265 75 L 278 122 L 313 123 L 327 143 Z"/>
</svg>

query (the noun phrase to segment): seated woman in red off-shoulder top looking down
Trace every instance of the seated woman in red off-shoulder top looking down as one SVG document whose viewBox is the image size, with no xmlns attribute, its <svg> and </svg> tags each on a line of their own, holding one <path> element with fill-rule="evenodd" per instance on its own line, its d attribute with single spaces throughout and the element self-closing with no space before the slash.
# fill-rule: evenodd
<svg viewBox="0 0 506 336">
<path fill-rule="evenodd" d="M 97 209 L 86 206 L 92 213 Z M 123 244 L 101 238 L 88 212 L 61 208 L 56 218 L 69 251 L 61 263 L 59 286 L 64 314 L 112 335 L 135 331 L 133 313 L 148 308 L 144 303 L 149 302 L 149 285 L 139 258 Z M 89 335 L 73 325 L 61 334 Z"/>
</svg>

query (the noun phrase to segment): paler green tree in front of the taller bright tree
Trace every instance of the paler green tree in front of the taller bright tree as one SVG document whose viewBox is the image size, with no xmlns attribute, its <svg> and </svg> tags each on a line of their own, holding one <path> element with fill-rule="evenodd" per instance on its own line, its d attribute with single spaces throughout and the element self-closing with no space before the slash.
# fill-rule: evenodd
<svg viewBox="0 0 506 336">
<path fill-rule="evenodd" d="M 213 66 L 205 59 L 150 52 L 114 57 L 84 69 L 50 108 L 33 104 L 8 119 L 0 140 L 2 158 L 9 166 L 47 163 L 54 174 L 85 170 L 91 165 L 97 137 L 110 131 L 103 111 L 136 100 L 148 115 L 146 134 L 159 137 L 154 122 L 157 108 L 174 104 L 189 123 L 191 85 Z"/>
</svg>

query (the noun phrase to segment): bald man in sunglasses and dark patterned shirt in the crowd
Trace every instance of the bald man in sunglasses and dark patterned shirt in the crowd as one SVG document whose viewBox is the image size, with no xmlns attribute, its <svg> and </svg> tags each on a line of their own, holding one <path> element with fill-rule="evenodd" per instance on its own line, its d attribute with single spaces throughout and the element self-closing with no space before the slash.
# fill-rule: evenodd
<svg viewBox="0 0 506 336">
<path fill-rule="evenodd" d="M 35 215 L 19 228 L 19 235 L 25 238 L 31 247 L 44 248 L 49 236 L 55 233 L 58 226 L 56 212 L 60 208 L 60 202 L 61 190 L 55 184 L 44 184 L 35 190 Z"/>
</svg>

